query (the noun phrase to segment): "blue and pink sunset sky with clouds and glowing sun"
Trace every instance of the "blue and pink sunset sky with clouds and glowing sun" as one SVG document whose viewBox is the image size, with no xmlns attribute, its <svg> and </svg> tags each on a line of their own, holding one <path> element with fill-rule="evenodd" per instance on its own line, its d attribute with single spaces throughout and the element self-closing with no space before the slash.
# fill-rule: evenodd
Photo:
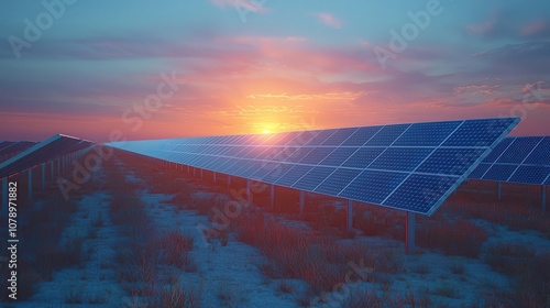
<svg viewBox="0 0 550 308">
<path fill-rule="evenodd" d="M 45 0 L 0 10 L 0 140 L 521 117 L 550 134 L 550 1 Z"/>
</svg>

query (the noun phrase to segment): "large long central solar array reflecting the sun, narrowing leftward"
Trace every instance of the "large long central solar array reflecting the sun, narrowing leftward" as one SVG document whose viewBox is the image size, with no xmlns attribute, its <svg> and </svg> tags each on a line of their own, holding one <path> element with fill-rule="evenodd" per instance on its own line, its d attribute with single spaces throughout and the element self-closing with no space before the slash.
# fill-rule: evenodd
<svg viewBox="0 0 550 308">
<path fill-rule="evenodd" d="M 518 118 L 107 145 L 263 183 L 431 215 Z"/>
</svg>

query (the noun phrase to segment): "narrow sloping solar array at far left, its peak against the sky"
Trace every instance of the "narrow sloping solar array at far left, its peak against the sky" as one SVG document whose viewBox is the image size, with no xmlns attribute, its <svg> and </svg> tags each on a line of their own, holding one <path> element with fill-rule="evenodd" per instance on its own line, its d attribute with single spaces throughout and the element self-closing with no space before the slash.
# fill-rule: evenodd
<svg viewBox="0 0 550 308">
<path fill-rule="evenodd" d="M 56 157 L 74 153 L 94 143 L 67 135 L 54 135 L 0 164 L 0 178 L 32 168 Z"/>
</svg>

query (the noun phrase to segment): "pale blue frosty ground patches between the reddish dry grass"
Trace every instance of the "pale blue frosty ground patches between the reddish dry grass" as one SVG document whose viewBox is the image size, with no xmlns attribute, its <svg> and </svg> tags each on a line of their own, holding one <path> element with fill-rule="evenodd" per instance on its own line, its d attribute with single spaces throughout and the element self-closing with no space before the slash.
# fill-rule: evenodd
<svg viewBox="0 0 550 308">
<path fill-rule="evenodd" d="M 162 275 L 175 276 L 182 285 L 199 289 L 200 307 L 300 307 L 298 299 L 307 294 L 308 288 L 305 280 L 283 282 L 266 277 L 258 265 L 270 260 L 257 248 L 239 242 L 234 233 L 229 234 L 227 245 L 218 240 L 206 243 L 197 231 L 197 226 L 208 223 L 206 216 L 170 205 L 168 200 L 172 195 L 152 194 L 146 189 L 146 179 L 130 169 L 125 172 L 128 183 L 143 187 L 135 194 L 145 204 L 146 212 L 158 231 L 179 230 L 195 239 L 189 256 L 197 271 L 166 267 L 167 272 Z M 209 196 L 218 193 L 208 191 L 208 187 L 202 186 L 195 194 Z M 62 241 L 85 235 L 88 258 L 78 266 L 57 271 L 53 280 L 41 283 L 37 293 L 29 300 L 18 302 L 16 307 L 145 307 L 143 298 L 124 290 L 112 267 L 121 235 L 110 220 L 109 206 L 110 197 L 103 190 L 81 198 Z M 301 231 L 309 229 L 307 223 L 287 220 L 280 215 L 265 215 L 289 228 Z M 510 231 L 482 220 L 476 223 L 492 234 L 484 246 L 508 241 L 537 243 L 534 249 L 538 252 L 550 251 L 550 241 L 540 232 Z M 358 235 L 337 240 L 337 243 L 364 244 L 372 250 L 389 251 L 402 270 L 396 274 L 384 273 L 385 283 L 365 279 L 345 285 L 345 282 L 341 282 L 334 286 L 339 293 L 326 295 L 327 298 L 338 299 L 333 300 L 333 307 L 340 307 L 338 305 L 344 301 L 346 293 L 353 294 L 361 289 L 389 297 L 404 297 L 413 293 L 429 298 L 430 306 L 436 307 L 483 307 L 484 302 L 480 298 L 487 294 L 494 295 L 512 284 L 509 276 L 496 273 L 481 260 L 450 256 L 425 249 L 419 249 L 414 255 L 405 255 L 403 242 L 392 239 Z M 282 283 L 292 285 L 292 289 L 282 292 Z"/>
</svg>

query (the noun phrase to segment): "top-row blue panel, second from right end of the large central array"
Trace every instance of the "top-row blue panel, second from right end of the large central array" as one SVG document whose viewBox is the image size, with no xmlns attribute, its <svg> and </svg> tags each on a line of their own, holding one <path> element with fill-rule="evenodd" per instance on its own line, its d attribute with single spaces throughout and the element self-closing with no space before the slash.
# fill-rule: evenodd
<svg viewBox="0 0 550 308">
<path fill-rule="evenodd" d="M 413 124 L 397 141 L 395 146 L 438 146 L 458 127 L 459 122 Z"/>
</svg>

